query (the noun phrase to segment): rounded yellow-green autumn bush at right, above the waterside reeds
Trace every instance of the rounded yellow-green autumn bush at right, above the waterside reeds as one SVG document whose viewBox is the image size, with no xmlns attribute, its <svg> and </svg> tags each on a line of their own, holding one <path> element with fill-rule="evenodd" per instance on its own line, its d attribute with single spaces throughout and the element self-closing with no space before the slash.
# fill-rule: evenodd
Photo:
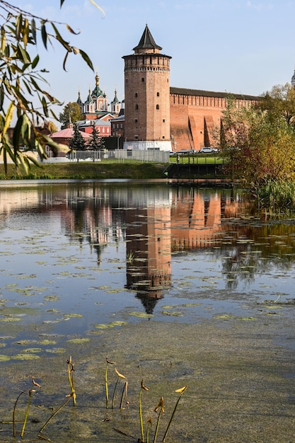
<svg viewBox="0 0 295 443">
<path fill-rule="evenodd" d="M 221 155 L 233 179 L 255 189 L 294 178 L 295 132 L 284 116 L 229 100 L 222 125 Z"/>
</svg>

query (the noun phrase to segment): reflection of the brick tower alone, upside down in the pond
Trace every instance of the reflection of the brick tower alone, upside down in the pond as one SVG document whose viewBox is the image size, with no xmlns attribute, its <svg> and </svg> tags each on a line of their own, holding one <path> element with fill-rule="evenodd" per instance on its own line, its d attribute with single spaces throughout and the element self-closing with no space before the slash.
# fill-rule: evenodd
<svg viewBox="0 0 295 443">
<path fill-rule="evenodd" d="M 170 191 L 157 191 L 132 195 L 137 209 L 126 212 L 127 288 L 137 292 L 146 313 L 171 285 Z"/>
</svg>

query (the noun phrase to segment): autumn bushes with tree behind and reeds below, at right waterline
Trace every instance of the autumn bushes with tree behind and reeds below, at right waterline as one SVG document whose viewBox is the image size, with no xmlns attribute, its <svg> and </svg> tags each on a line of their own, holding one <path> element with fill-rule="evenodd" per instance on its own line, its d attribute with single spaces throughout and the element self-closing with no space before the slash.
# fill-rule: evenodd
<svg viewBox="0 0 295 443">
<path fill-rule="evenodd" d="M 225 172 L 260 206 L 295 208 L 295 91 L 275 86 L 258 105 L 224 110 L 220 138 Z"/>
</svg>

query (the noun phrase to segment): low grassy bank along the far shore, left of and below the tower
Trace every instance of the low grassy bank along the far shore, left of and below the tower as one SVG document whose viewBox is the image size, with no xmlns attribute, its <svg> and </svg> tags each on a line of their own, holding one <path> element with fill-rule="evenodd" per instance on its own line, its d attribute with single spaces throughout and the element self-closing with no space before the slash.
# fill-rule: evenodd
<svg viewBox="0 0 295 443">
<path fill-rule="evenodd" d="M 102 178 L 164 178 L 163 163 L 140 163 L 130 161 L 128 163 L 118 163 L 117 161 L 86 162 L 79 163 L 47 163 L 40 167 L 31 166 L 30 172 L 25 174 L 21 170 L 16 170 L 13 164 L 8 164 L 7 173 L 4 165 L 0 165 L 1 180 L 57 180 L 57 179 L 102 179 Z"/>
</svg>

